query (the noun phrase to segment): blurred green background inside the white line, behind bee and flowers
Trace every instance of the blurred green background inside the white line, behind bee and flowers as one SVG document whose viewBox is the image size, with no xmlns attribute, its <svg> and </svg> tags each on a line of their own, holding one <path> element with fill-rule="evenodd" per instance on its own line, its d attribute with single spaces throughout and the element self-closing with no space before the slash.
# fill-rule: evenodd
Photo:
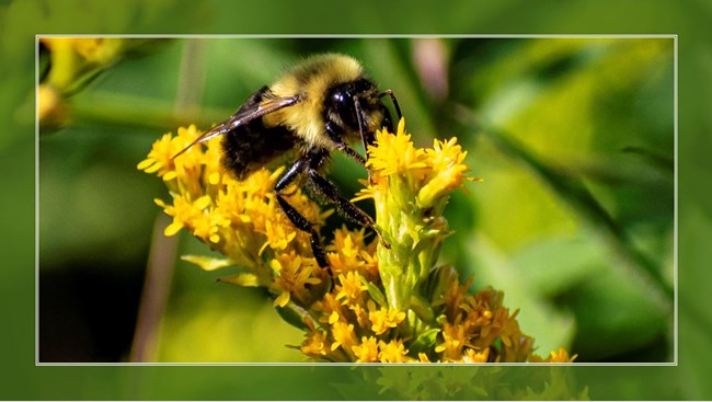
<svg viewBox="0 0 712 402">
<path fill-rule="evenodd" d="M 174 246 L 151 232 L 166 193 L 135 165 L 161 134 L 208 128 L 324 51 L 392 89 L 418 145 L 456 135 L 468 149 L 484 183 L 453 197 L 441 261 L 504 290 L 540 353 L 674 360 L 674 38 L 112 41 L 96 50 L 123 49 L 111 62 L 60 74 L 81 57 L 64 64 L 41 39 L 42 82 L 73 77 L 64 116 L 41 120 L 41 361 L 302 360 L 265 294 L 190 264 L 148 283 L 170 283 L 168 301 L 134 336 L 139 305 L 164 302 L 140 298 L 149 249 Z M 365 172 L 335 159 L 332 176 L 355 194 Z M 182 240 L 170 260 L 208 253 Z M 131 356 L 131 343 L 148 349 Z"/>
</svg>

